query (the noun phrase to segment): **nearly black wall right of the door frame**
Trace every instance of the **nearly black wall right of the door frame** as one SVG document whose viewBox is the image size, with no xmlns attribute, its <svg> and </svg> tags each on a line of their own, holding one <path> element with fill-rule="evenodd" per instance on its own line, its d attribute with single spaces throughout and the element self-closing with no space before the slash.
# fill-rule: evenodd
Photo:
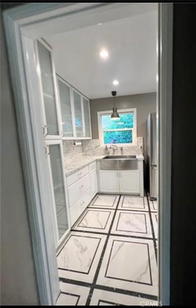
<svg viewBox="0 0 196 308">
<path fill-rule="evenodd" d="M 171 305 L 196 300 L 196 4 L 174 4 Z"/>
</svg>

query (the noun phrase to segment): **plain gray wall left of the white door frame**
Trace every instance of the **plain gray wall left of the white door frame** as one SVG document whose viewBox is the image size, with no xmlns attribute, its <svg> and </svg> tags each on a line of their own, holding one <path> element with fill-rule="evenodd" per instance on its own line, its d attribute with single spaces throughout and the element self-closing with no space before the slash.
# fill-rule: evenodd
<svg viewBox="0 0 196 308">
<path fill-rule="evenodd" d="M 1 22 L 1 305 L 37 306 L 39 298 L 6 54 Z"/>
</svg>

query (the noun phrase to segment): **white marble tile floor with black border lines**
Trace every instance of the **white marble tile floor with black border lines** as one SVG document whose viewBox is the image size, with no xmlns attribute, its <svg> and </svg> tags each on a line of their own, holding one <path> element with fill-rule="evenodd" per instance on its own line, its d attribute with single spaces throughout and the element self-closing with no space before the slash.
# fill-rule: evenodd
<svg viewBox="0 0 196 308">
<path fill-rule="evenodd" d="M 96 195 L 57 255 L 56 305 L 157 306 L 157 218 L 147 197 Z"/>
</svg>

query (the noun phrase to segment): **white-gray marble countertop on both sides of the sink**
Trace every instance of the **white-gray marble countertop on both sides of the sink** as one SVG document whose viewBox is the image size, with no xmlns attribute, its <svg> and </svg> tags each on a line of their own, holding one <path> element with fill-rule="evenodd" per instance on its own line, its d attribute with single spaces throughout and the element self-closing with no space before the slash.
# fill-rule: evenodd
<svg viewBox="0 0 196 308">
<path fill-rule="evenodd" d="M 77 172 L 81 168 L 88 166 L 96 160 L 104 158 L 105 155 L 79 155 L 73 158 L 64 160 L 64 171 L 65 175 L 69 176 L 74 172 Z M 136 154 L 137 160 L 144 160 L 143 154 Z"/>
</svg>

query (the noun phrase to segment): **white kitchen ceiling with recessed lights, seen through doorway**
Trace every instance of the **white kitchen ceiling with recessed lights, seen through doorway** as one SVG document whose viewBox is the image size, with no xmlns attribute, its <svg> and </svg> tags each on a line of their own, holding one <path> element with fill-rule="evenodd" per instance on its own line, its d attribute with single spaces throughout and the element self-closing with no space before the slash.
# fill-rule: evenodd
<svg viewBox="0 0 196 308">
<path fill-rule="evenodd" d="M 156 91 L 156 38 L 157 10 L 44 37 L 56 72 L 90 99 Z"/>
</svg>

